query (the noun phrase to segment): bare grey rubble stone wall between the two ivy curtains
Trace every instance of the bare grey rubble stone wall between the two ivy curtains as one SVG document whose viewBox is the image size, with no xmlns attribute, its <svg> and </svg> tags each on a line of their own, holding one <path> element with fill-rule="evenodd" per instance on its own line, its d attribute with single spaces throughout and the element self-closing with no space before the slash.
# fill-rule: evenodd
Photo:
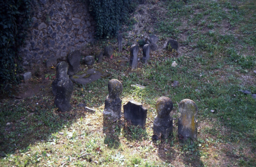
<svg viewBox="0 0 256 167">
<path fill-rule="evenodd" d="M 31 10 L 31 28 L 18 53 L 27 70 L 49 58 L 65 60 L 93 40 L 94 23 L 83 0 L 33 0 Z"/>
</svg>

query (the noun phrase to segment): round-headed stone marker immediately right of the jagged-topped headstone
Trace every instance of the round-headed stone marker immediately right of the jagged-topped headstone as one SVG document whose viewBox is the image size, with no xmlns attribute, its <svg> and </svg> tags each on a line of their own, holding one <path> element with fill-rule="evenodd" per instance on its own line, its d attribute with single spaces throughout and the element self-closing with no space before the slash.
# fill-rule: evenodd
<svg viewBox="0 0 256 167">
<path fill-rule="evenodd" d="M 156 104 L 157 116 L 153 123 L 153 132 L 162 135 L 161 138 L 167 138 L 173 133 L 173 118 L 170 112 L 173 109 L 173 102 L 168 97 L 160 97 Z"/>
</svg>

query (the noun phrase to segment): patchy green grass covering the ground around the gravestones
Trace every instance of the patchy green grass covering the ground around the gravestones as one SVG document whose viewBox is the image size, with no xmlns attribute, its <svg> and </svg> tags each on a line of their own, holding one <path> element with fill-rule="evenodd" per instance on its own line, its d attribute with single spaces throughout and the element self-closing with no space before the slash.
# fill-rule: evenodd
<svg viewBox="0 0 256 167">
<path fill-rule="evenodd" d="M 49 89 L 26 99 L 1 99 L 0 166 L 256 165 L 256 103 L 239 91 L 256 94 L 256 2 L 152 3 L 161 9 L 149 10 L 155 19 L 152 25 L 141 27 L 142 34 L 136 31 L 139 18 L 131 19 L 127 26 L 135 30 L 126 29 L 123 52 L 93 65 L 108 76 L 85 86 L 74 85 L 70 112 L 57 112 Z M 178 52 L 151 52 L 149 64 L 139 62 L 131 70 L 125 59 L 130 44 L 153 31 L 159 45 L 168 38 L 176 39 Z M 117 42 L 109 39 L 96 46 L 109 43 L 115 46 Z M 171 67 L 173 61 L 178 64 L 175 68 Z M 53 81 L 52 76 L 45 77 Z M 134 99 L 148 108 L 145 129 L 132 126 L 123 117 L 116 122 L 103 117 L 110 79 L 123 84 L 122 105 Z M 174 88 L 175 80 L 179 85 Z M 135 84 L 146 88 L 131 87 Z M 155 103 L 161 96 L 173 101 L 174 134 L 152 141 Z M 178 103 L 185 98 L 198 106 L 198 140 L 194 142 L 180 142 L 177 137 Z M 96 112 L 85 112 L 79 104 L 94 107 Z"/>
</svg>

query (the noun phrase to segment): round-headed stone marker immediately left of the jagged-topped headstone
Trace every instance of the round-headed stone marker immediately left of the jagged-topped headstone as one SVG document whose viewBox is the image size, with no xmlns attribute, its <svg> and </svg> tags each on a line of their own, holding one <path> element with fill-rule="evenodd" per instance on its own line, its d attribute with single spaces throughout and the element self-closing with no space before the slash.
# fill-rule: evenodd
<svg viewBox="0 0 256 167">
<path fill-rule="evenodd" d="M 122 99 L 120 95 L 123 91 L 122 83 L 117 79 L 111 79 L 107 85 L 109 95 L 105 99 L 105 107 L 103 114 L 110 115 L 113 119 L 121 117 Z"/>
</svg>

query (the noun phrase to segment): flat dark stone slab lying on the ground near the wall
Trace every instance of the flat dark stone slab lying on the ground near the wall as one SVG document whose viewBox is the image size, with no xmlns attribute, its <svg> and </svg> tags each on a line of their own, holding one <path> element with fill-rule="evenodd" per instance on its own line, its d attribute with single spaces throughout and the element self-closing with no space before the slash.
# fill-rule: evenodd
<svg viewBox="0 0 256 167">
<path fill-rule="evenodd" d="M 70 79 L 75 83 L 86 85 L 88 83 L 104 78 L 106 76 L 106 73 L 97 71 L 96 69 L 89 69 L 86 71 L 86 73 L 81 75 L 74 75 L 70 77 Z"/>
</svg>

